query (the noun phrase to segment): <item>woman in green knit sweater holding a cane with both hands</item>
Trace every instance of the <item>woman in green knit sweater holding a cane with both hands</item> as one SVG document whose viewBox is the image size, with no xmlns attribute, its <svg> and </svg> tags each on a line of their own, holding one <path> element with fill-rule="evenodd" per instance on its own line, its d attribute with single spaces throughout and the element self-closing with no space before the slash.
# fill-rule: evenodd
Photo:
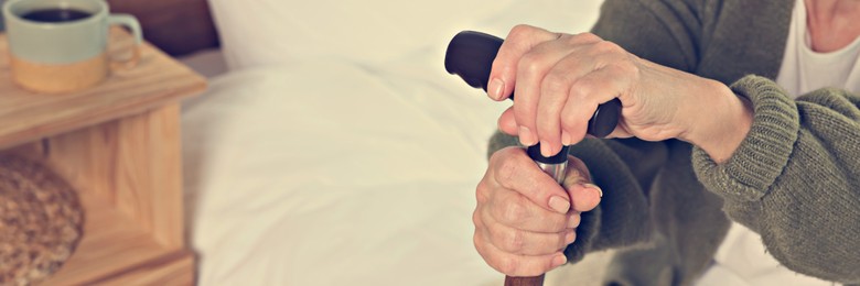
<svg viewBox="0 0 860 286">
<path fill-rule="evenodd" d="M 592 33 L 515 28 L 479 253 L 513 276 L 624 248 L 608 283 L 860 284 L 858 35 L 858 0 L 608 0 Z M 614 98 L 613 139 L 587 138 Z M 573 144 L 565 186 L 537 143 Z"/>
</svg>

